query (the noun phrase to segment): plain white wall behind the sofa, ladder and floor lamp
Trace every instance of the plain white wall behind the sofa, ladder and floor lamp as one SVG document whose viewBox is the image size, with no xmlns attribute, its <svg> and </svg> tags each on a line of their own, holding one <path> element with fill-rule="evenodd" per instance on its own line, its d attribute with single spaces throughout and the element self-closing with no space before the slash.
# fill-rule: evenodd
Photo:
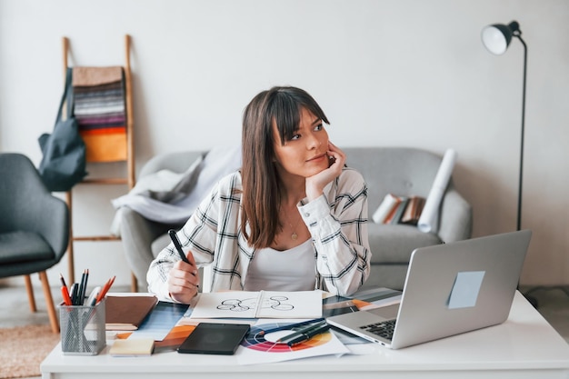
<svg viewBox="0 0 569 379">
<path fill-rule="evenodd" d="M 529 55 L 523 227 L 534 231 L 522 284 L 568 284 L 568 18 L 566 0 L 0 0 L 0 151 L 39 163 L 63 35 L 71 65 L 123 65 L 129 34 L 138 169 L 168 150 L 234 143 L 253 95 L 297 85 L 323 106 L 336 145 L 453 147 L 474 236 L 512 231 L 523 48 L 491 55 L 480 32 L 517 20 Z M 77 187 L 75 231 L 106 233 L 122 191 Z M 130 280 L 120 243 L 75 244 L 84 268 L 93 281 Z M 50 278 L 59 272 L 65 259 Z"/>
</svg>

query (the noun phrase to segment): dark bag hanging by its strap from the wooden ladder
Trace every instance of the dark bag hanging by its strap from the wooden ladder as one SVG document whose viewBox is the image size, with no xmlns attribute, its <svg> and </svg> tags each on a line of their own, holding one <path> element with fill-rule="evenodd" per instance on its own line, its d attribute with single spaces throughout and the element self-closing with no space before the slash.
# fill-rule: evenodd
<svg viewBox="0 0 569 379">
<path fill-rule="evenodd" d="M 39 173 L 50 191 L 69 191 L 81 182 L 85 175 L 85 142 L 79 135 L 79 125 L 73 116 L 73 69 L 67 68 L 65 91 L 59 105 L 54 132 L 38 138 L 43 158 Z M 61 120 L 63 106 L 67 100 L 67 118 Z"/>
</svg>

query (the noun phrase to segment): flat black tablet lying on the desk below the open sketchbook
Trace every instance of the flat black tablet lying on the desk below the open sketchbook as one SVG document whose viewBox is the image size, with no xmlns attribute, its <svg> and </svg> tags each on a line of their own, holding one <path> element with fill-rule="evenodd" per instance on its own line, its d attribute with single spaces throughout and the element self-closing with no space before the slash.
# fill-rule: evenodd
<svg viewBox="0 0 569 379">
<path fill-rule="evenodd" d="M 178 353 L 188 354 L 235 354 L 235 350 L 245 334 L 248 324 L 200 323 L 178 347 Z"/>
</svg>

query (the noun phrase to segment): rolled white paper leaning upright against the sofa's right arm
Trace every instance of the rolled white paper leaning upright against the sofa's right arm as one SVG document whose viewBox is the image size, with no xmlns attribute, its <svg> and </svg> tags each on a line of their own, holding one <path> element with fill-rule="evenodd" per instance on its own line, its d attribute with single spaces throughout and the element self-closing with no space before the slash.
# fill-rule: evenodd
<svg viewBox="0 0 569 379">
<path fill-rule="evenodd" d="M 421 232 L 436 233 L 438 231 L 439 208 L 444 196 L 444 190 L 453 174 L 455 161 L 456 152 L 453 149 L 447 149 L 444 152 L 439 170 L 436 176 L 434 176 L 433 186 L 424 202 L 423 212 L 417 223 L 417 227 Z"/>
</svg>

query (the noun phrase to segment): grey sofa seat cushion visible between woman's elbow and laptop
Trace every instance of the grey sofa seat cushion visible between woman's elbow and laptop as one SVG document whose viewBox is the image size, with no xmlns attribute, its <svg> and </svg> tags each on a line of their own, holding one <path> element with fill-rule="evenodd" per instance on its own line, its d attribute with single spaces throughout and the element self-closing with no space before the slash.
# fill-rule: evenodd
<svg viewBox="0 0 569 379">
<path fill-rule="evenodd" d="M 404 224 L 368 224 L 372 264 L 408 264 L 417 247 L 441 244 L 436 234 Z"/>
</svg>

